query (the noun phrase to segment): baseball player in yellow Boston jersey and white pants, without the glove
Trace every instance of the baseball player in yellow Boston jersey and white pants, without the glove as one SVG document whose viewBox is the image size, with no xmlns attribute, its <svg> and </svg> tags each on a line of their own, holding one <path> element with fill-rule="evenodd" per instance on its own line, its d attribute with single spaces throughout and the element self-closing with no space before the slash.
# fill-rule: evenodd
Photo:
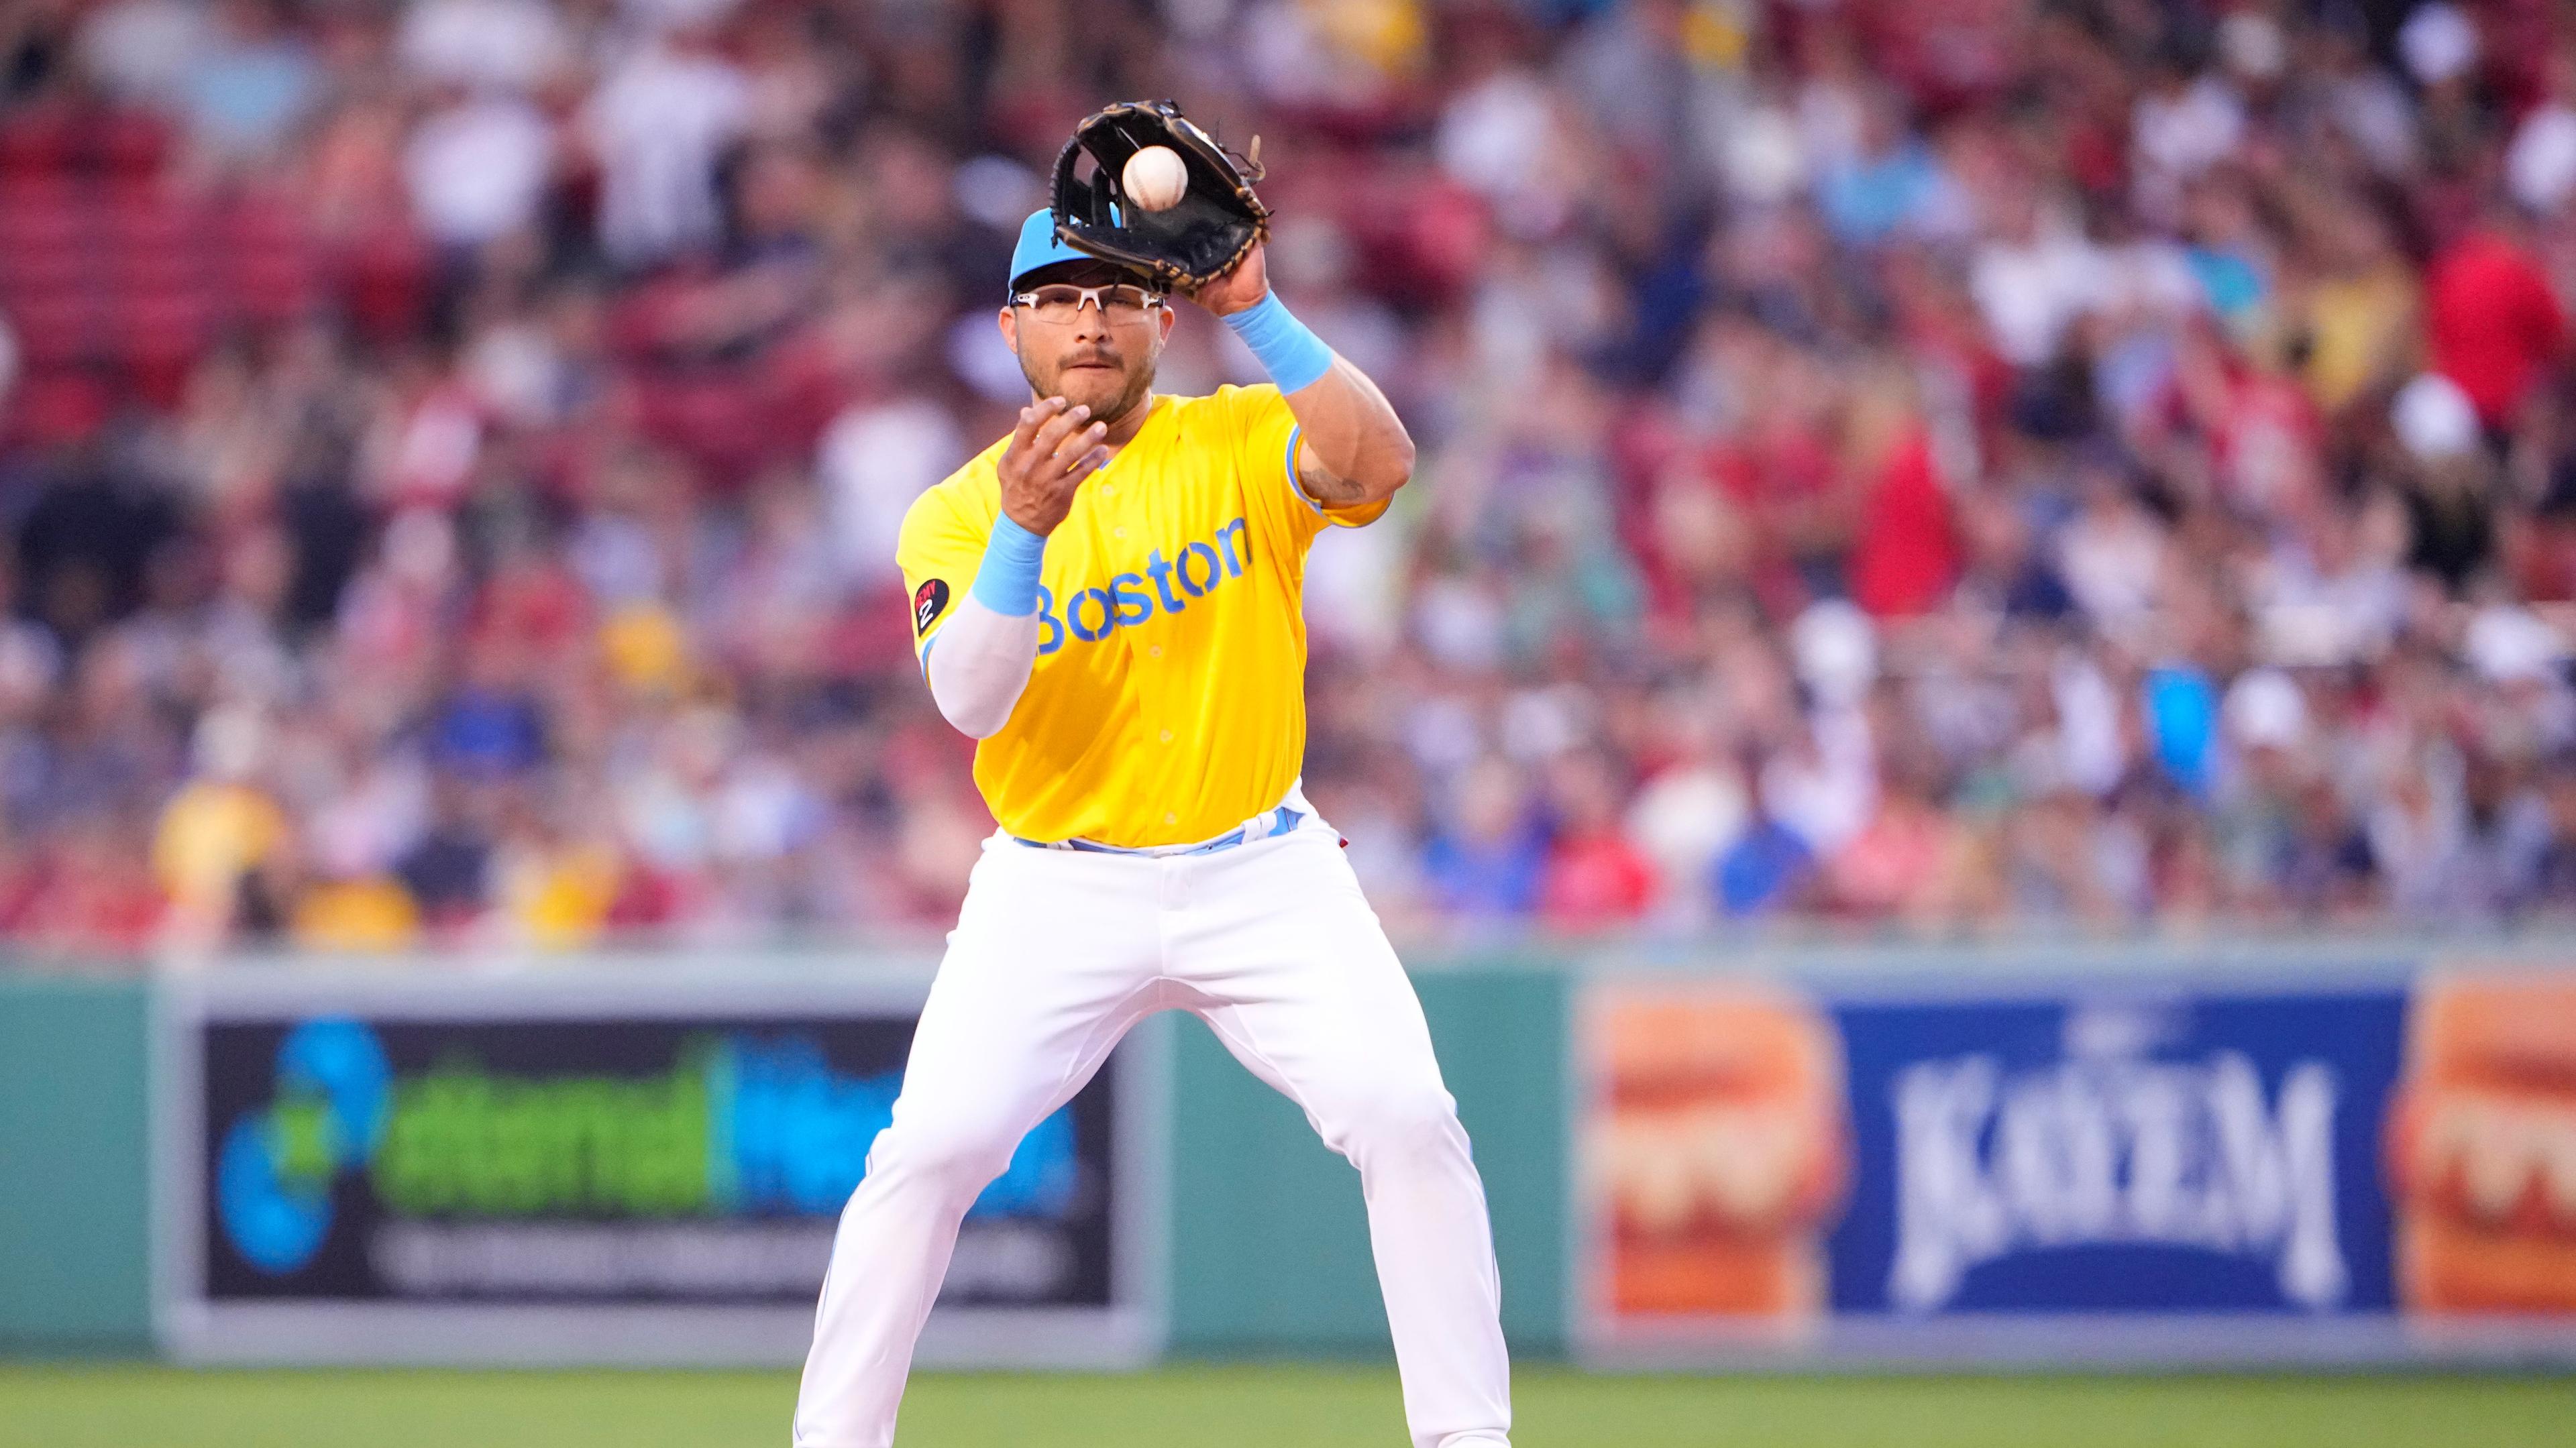
<svg viewBox="0 0 2576 1448">
<path fill-rule="evenodd" d="M 1157 1010 L 1206 1020 L 1360 1170 L 1417 1448 L 1507 1448 L 1484 1185 L 1404 966 L 1298 791 L 1306 549 L 1386 513 L 1414 446 L 1270 291 L 1190 299 L 1270 386 L 1157 397 L 1172 301 L 1020 229 L 1020 425 L 904 518 L 922 672 L 999 819 L 842 1211 L 796 1448 L 886 1448 L 958 1221 Z"/>
</svg>

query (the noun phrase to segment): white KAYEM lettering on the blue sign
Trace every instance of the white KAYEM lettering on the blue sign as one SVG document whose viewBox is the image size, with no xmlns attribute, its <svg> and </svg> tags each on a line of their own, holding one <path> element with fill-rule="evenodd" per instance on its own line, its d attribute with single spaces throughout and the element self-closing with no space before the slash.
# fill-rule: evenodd
<svg viewBox="0 0 2576 1448">
<path fill-rule="evenodd" d="M 2254 1062 L 1994 1056 L 1906 1067 L 1896 1105 L 1888 1299 L 1929 1311 L 1968 1268 L 2038 1247 L 2200 1247 L 2275 1265 L 2285 1299 L 2344 1301 L 2334 1232 L 2336 1077 L 2290 1067 L 2277 1105 Z"/>
</svg>

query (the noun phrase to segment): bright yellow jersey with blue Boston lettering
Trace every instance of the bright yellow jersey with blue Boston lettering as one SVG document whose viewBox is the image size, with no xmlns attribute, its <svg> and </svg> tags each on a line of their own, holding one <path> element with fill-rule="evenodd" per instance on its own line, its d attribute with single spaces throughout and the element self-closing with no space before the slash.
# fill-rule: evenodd
<svg viewBox="0 0 2576 1448">
<path fill-rule="evenodd" d="M 1002 513 L 984 448 L 904 513 L 896 562 L 922 660 L 974 587 Z M 1046 538 L 1038 662 L 974 781 L 1023 840 L 1188 845 L 1270 809 L 1306 757 L 1306 549 L 1386 502 L 1296 484 L 1275 386 L 1157 397 Z"/>
</svg>

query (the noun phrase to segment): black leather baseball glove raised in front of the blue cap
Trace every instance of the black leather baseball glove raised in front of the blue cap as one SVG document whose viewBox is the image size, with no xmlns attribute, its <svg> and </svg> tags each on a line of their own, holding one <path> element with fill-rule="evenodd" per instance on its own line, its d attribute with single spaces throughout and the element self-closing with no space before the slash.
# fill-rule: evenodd
<svg viewBox="0 0 2576 1448">
<path fill-rule="evenodd" d="M 1190 188 L 1164 211 L 1131 204 L 1121 186 L 1128 157 L 1144 147 L 1172 147 L 1190 170 Z M 1084 157 L 1092 170 L 1077 180 Z M 1231 271 L 1270 234 L 1270 206 L 1252 193 L 1260 178 L 1260 137 L 1252 137 L 1252 155 L 1239 157 L 1193 126 L 1172 100 L 1121 100 L 1082 121 L 1056 155 L 1056 237 L 1077 252 L 1190 291 Z"/>
</svg>

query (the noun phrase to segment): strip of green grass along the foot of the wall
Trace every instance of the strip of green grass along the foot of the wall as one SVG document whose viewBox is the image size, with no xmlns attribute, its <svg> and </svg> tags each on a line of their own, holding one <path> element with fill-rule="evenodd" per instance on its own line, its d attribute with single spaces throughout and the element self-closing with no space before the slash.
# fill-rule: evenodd
<svg viewBox="0 0 2576 1448">
<path fill-rule="evenodd" d="M 788 1373 L 0 1366 L 0 1448 L 786 1448 Z M 1595 1378 L 1522 1368 L 1520 1448 L 2548 1448 L 2568 1378 Z M 1401 1448 L 1381 1368 L 925 1373 L 904 1448 Z"/>
</svg>

